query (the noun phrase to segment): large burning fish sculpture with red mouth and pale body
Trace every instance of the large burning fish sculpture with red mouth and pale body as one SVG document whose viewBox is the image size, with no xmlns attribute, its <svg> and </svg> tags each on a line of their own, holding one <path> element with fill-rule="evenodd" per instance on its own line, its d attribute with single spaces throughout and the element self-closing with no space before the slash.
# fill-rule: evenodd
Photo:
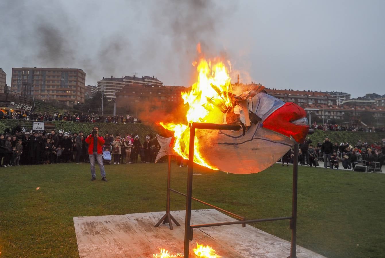
<svg viewBox="0 0 385 258">
<path fill-rule="evenodd" d="M 211 75 L 210 72 L 206 77 L 215 78 L 218 70 Z M 198 73 L 201 77 L 199 69 Z M 187 121 L 241 125 L 241 129 L 196 130 L 194 163 L 234 174 L 258 173 L 278 161 L 296 142 L 305 140 L 309 131 L 306 112 L 295 103 L 285 103 L 268 95 L 262 85 L 231 85 L 229 78 L 218 80 L 217 85 L 210 80 L 201 82 L 202 78 L 198 79 L 198 85 L 194 84 L 195 89 L 198 88 L 196 92 L 193 85 L 191 92 L 184 93 L 187 96 L 182 94 L 185 103 L 190 105 L 189 111 L 198 109 L 193 111 L 198 112 L 198 119 L 189 118 L 187 113 Z M 214 91 L 205 93 L 202 84 Z M 206 103 L 202 104 L 204 97 Z M 198 107 L 194 107 L 196 98 L 200 99 Z M 207 111 L 205 114 L 199 112 L 201 107 Z M 174 137 L 157 135 L 161 149 L 156 161 L 164 155 L 181 155 L 187 159 L 188 126 L 160 124 L 174 131 Z"/>
</svg>

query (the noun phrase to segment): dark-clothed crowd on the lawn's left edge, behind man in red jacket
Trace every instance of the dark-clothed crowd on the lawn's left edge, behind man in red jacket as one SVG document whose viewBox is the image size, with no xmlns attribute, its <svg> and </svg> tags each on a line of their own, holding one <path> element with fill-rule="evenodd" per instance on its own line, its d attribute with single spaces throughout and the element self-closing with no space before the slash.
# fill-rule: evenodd
<svg viewBox="0 0 385 258">
<path fill-rule="evenodd" d="M 39 165 L 67 162 L 89 162 L 88 145 L 85 139 L 90 133 L 45 131 L 23 132 L 21 128 L 7 130 L 0 135 L 0 165 Z M 147 136 L 142 143 L 139 136 L 126 133 L 114 136 L 105 134 L 105 146 L 112 154 L 109 164 L 154 162 L 159 151 L 156 140 Z M 78 148 L 82 145 L 82 148 Z M 79 152 L 78 150 L 81 149 Z M 162 162 L 162 161 L 161 161 Z"/>
</svg>

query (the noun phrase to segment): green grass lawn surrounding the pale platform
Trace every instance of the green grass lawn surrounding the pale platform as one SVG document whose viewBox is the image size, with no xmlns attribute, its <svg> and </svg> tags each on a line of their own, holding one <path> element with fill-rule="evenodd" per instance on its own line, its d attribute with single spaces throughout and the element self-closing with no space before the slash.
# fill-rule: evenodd
<svg viewBox="0 0 385 258">
<path fill-rule="evenodd" d="M 89 181 L 88 164 L 0 168 L 0 257 L 79 257 L 72 217 L 164 211 L 166 167 L 106 165 L 108 182 L 100 174 Z M 186 192 L 186 172 L 172 163 L 172 188 Z M 196 198 L 249 219 L 291 215 L 292 166 L 251 175 L 196 166 L 194 173 L 201 173 Z M 327 257 L 383 257 L 384 185 L 383 174 L 300 167 L 298 245 Z M 185 198 L 171 193 L 171 209 L 184 208 Z M 290 240 L 288 221 L 254 226 Z"/>
</svg>

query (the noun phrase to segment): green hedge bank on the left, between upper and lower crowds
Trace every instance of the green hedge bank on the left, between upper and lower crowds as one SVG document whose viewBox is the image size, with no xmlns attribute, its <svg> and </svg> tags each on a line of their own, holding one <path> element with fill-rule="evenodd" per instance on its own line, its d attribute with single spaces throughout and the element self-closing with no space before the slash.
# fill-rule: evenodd
<svg viewBox="0 0 385 258">
<path fill-rule="evenodd" d="M 67 121 L 52 121 L 55 124 L 56 130 L 79 132 L 84 131 L 84 133 L 89 133 L 92 131 L 94 126 L 99 127 L 99 131 L 104 135 L 105 133 L 117 135 L 126 135 L 126 133 L 132 133 L 134 135 L 139 135 L 143 140 L 146 135 L 151 135 L 151 139 L 155 137 L 156 131 L 151 127 L 146 126 L 141 123 L 136 124 L 114 124 L 114 123 L 78 123 L 78 122 L 67 122 Z M 6 128 L 12 128 L 23 125 L 30 124 L 30 127 L 26 127 L 28 130 L 32 129 L 32 121 L 19 121 L 13 119 L 0 120 L 0 132 L 3 133 Z"/>
</svg>

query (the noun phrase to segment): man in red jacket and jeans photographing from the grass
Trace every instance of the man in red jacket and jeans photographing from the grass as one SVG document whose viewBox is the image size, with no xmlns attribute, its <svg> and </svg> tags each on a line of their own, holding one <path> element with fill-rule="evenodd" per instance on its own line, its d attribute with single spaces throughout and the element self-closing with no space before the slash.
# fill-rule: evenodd
<svg viewBox="0 0 385 258">
<path fill-rule="evenodd" d="M 102 145 L 104 144 L 104 138 L 102 136 L 99 136 L 99 127 L 94 127 L 94 129 L 92 129 L 91 134 L 87 137 L 87 139 L 85 139 L 85 142 L 88 143 L 88 156 L 90 159 L 92 176 L 91 181 L 94 181 L 96 179 L 96 160 L 100 168 L 100 175 L 102 176 L 102 180 L 107 182 L 107 179 L 105 178 L 105 171 L 102 158 Z"/>
</svg>

